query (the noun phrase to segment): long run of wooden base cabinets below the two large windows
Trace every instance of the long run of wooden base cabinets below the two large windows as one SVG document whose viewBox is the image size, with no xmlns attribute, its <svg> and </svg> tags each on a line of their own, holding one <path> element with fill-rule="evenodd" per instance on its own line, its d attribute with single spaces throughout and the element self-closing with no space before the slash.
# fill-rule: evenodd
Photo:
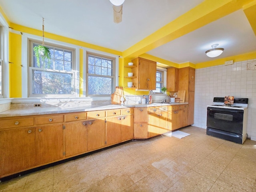
<svg viewBox="0 0 256 192">
<path fill-rule="evenodd" d="M 133 139 L 133 109 L 0 118 L 0 178 Z"/>
</svg>

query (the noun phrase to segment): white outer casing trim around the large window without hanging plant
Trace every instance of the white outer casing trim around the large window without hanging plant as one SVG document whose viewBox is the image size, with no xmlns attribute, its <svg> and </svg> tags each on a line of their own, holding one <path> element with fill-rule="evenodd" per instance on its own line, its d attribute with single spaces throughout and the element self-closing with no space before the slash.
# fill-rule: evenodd
<svg viewBox="0 0 256 192">
<path fill-rule="evenodd" d="M 83 78 L 84 78 L 84 82 L 83 82 L 83 97 L 87 97 L 87 98 L 96 98 L 95 96 L 86 96 L 86 73 L 87 73 L 87 52 L 90 52 L 91 54 L 100 54 L 100 55 L 104 55 L 104 56 L 108 56 L 108 57 L 113 57 L 115 58 L 115 82 L 116 82 L 116 85 L 114 86 L 118 86 L 119 85 L 119 78 L 118 78 L 118 75 L 119 75 L 119 56 L 118 55 L 114 55 L 114 54 L 110 54 L 110 53 L 106 53 L 106 52 L 102 52 L 102 51 L 98 51 L 98 50 L 93 50 L 93 49 L 90 49 L 90 48 L 83 48 L 84 51 L 83 51 L 83 55 L 84 55 L 84 74 L 83 74 Z M 100 96 L 99 96 L 100 97 Z M 110 97 L 100 97 L 102 99 L 110 99 Z"/>
</svg>

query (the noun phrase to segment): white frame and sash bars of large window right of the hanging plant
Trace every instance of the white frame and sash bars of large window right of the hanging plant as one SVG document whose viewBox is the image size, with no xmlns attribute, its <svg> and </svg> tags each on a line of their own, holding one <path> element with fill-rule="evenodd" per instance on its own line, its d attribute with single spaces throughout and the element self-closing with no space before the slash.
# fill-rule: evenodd
<svg viewBox="0 0 256 192">
<path fill-rule="evenodd" d="M 94 97 L 110 97 L 111 93 L 110 94 L 102 94 L 102 95 L 88 94 L 88 77 L 90 76 L 90 74 L 88 73 L 88 57 L 89 57 L 89 55 L 113 60 L 112 76 L 104 76 L 104 75 L 97 75 L 97 74 L 93 75 L 93 76 L 98 76 L 98 77 L 112 78 L 113 82 L 112 82 L 112 87 L 111 87 L 111 93 L 114 93 L 116 86 L 118 86 L 117 85 L 118 84 L 118 80 L 117 80 L 117 77 L 118 77 L 117 60 L 118 59 L 111 54 L 99 53 L 99 52 L 95 52 L 95 51 L 92 52 L 92 51 L 88 51 L 88 50 L 85 51 L 85 60 L 86 61 L 84 63 L 85 63 L 85 73 L 86 73 L 86 76 L 85 76 L 85 95 L 86 95 L 86 97 L 92 97 L 92 98 L 94 98 Z"/>
</svg>

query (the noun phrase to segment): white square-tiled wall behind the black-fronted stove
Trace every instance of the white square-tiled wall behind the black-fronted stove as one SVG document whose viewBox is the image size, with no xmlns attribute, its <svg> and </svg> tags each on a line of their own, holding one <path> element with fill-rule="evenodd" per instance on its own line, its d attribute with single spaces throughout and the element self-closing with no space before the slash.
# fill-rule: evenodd
<svg viewBox="0 0 256 192">
<path fill-rule="evenodd" d="M 256 140 L 256 70 L 247 70 L 247 63 L 234 62 L 196 69 L 194 126 L 206 128 L 207 105 L 214 97 L 248 98 L 247 134 Z"/>
</svg>

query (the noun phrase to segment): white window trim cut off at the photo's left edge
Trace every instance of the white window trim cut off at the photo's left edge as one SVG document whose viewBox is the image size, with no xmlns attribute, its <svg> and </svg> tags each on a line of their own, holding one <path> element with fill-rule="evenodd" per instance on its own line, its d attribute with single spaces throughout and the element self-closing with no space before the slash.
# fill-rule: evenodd
<svg viewBox="0 0 256 192">
<path fill-rule="evenodd" d="M 0 98 L 9 98 L 9 25 L 4 19 L 4 16 L 0 13 L 0 24 L 2 25 L 2 49 L 1 56 L 2 60 L 2 70 L 3 70 L 3 87 L 2 95 Z"/>
</svg>

